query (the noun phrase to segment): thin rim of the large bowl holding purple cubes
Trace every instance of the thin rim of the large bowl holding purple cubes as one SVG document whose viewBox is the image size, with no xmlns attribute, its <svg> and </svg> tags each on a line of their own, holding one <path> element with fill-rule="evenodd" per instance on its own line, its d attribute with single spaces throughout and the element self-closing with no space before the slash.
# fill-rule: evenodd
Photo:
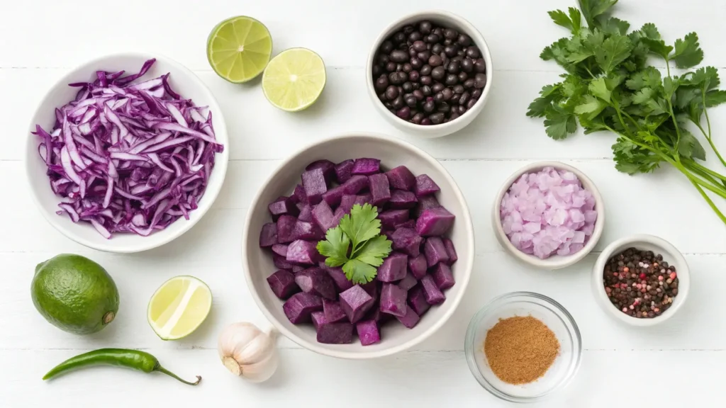
<svg viewBox="0 0 726 408">
<path fill-rule="evenodd" d="M 432 158 L 431 155 L 428 155 L 428 153 L 424 152 L 423 150 L 419 149 L 418 147 L 415 147 L 413 144 L 409 144 L 400 139 L 396 139 L 394 137 L 386 136 L 383 134 L 376 134 L 376 133 L 364 132 L 364 131 L 349 131 L 349 132 L 346 132 L 345 134 L 340 134 L 338 136 L 332 136 L 327 139 L 320 140 L 318 142 L 312 142 L 312 143 L 308 144 L 307 146 L 302 147 L 300 150 L 298 150 L 297 152 L 294 152 L 292 155 L 290 155 L 285 161 L 280 163 L 280 166 L 277 166 L 277 168 L 275 168 L 275 170 L 272 172 L 272 174 L 270 174 L 267 177 L 267 179 L 264 181 L 264 183 L 261 184 L 260 189 L 258 189 L 258 192 L 256 193 L 255 197 L 252 200 L 252 203 L 250 203 L 250 208 L 255 208 L 256 205 L 258 205 L 258 200 L 260 200 L 261 192 L 264 190 L 265 186 L 267 184 L 269 184 L 272 181 L 272 179 L 274 179 L 277 176 L 277 174 L 280 173 L 280 171 L 282 171 L 282 169 L 285 168 L 287 166 L 287 164 L 290 163 L 291 161 L 293 161 L 298 155 L 301 155 L 303 152 L 306 152 L 307 150 L 314 149 L 315 147 L 325 144 L 327 142 L 330 142 L 332 140 L 354 139 L 354 138 L 361 137 L 361 136 L 371 138 L 371 139 L 380 139 L 381 141 L 385 141 L 388 143 L 398 144 L 400 147 L 403 147 L 404 149 L 413 150 L 421 158 L 423 158 L 424 160 L 427 160 L 431 164 L 431 166 L 434 166 L 435 168 L 437 168 L 441 172 L 441 175 L 443 175 L 446 178 L 446 182 L 448 182 L 449 184 L 451 184 L 454 187 L 454 195 L 455 195 L 454 198 L 455 198 L 455 200 L 457 200 L 461 203 L 462 210 L 463 210 L 462 214 L 461 214 L 462 219 L 457 220 L 457 223 L 461 223 L 461 225 L 465 226 L 465 229 L 467 230 L 466 238 L 467 238 L 467 240 L 469 240 L 472 243 L 472 248 L 475 247 L 474 232 L 473 232 L 473 227 L 472 227 L 473 224 L 471 221 L 471 216 L 469 213 L 468 205 L 466 203 L 464 196 L 462 195 L 461 190 L 458 188 L 456 182 L 454 181 L 452 176 L 449 174 L 449 172 L 446 171 L 444 166 L 441 166 L 441 163 L 439 163 L 438 160 L 436 160 L 435 158 Z M 342 359 L 372 359 L 372 358 L 378 358 L 378 357 L 383 357 L 383 356 L 390 356 L 391 354 L 396 354 L 396 353 L 399 353 L 400 351 L 404 351 L 407 348 L 416 346 L 417 344 L 421 343 L 423 340 L 426 340 L 431 335 L 433 335 L 434 332 L 439 330 L 441 328 L 441 326 L 443 326 L 444 323 L 446 323 L 446 321 L 449 320 L 449 318 L 452 316 L 452 314 L 454 314 L 454 311 L 456 311 L 456 309 L 459 306 L 459 303 L 461 302 L 461 299 L 463 298 L 463 295 L 465 293 L 465 290 L 461 290 L 459 295 L 457 295 L 456 297 L 446 298 L 447 309 L 446 309 L 443 317 L 441 317 L 441 319 L 439 319 L 438 321 L 434 322 L 433 325 L 431 325 L 431 327 L 428 328 L 428 330 L 421 332 L 420 335 L 418 335 L 413 340 L 409 340 L 407 343 L 402 343 L 399 346 L 392 346 L 391 348 L 386 348 L 386 349 L 383 349 L 380 351 L 375 351 L 375 352 L 354 353 L 354 352 L 348 352 L 348 351 L 331 350 L 330 348 L 326 348 L 324 344 L 309 342 L 309 341 L 301 338 L 300 336 L 295 335 L 295 333 L 288 330 L 287 327 L 285 327 L 284 325 L 281 325 L 279 322 L 277 322 L 277 319 L 275 319 L 275 317 L 264 306 L 264 301 L 262 301 L 262 299 L 260 298 L 260 295 L 257 293 L 256 290 L 254 290 L 255 286 L 254 286 L 254 282 L 252 280 L 252 274 L 250 273 L 250 270 L 248 267 L 249 261 L 248 261 L 248 257 L 247 257 L 247 253 L 246 253 L 247 251 L 245 250 L 245 248 L 246 248 L 245 242 L 248 242 L 248 240 L 250 240 L 250 239 L 256 239 L 256 237 L 250 237 L 250 230 L 247 227 L 248 225 L 251 224 L 252 216 L 253 216 L 253 211 L 248 211 L 248 215 L 245 219 L 245 229 L 244 229 L 244 232 L 242 233 L 242 267 L 245 269 L 245 280 L 247 282 L 249 292 L 252 295 L 252 298 L 255 300 L 255 303 L 257 304 L 260 311 L 262 311 L 262 314 L 264 314 L 266 319 L 270 322 L 270 324 L 272 324 L 272 326 L 274 327 L 275 330 L 280 332 L 282 335 L 285 335 L 285 337 L 289 338 L 290 340 L 293 340 L 295 343 L 298 343 L 300 346 L 303 346 L 304 348 L 307 348 L 311 351 L 315 351 L 316 353 L 327 355 L 327 356 L 338 357 L 338 358 L 342 358 Z M 460 257 L 459 260 L 457 261 L 457 265 L 461 264 L 463 266 L 463 269 L 469 270 L 468 273 L 462 274 L 463 279 L 457 280 L 457 285 L 462 285 L 462 287 L 464 287 L 464 288 L 468 287 L 468 284 L 469 284 L 470 275 L 471 275 L 470 272 L 471 272 L 471 269 L 473 269 L 473 263 L 474 263 L 474 253 L 475 253 L 475 251 L 472 250 L 472 251 L 470 251 L 470 253 L 468 254 L 468 256 L 466 258 Z M 415 328 L 412 330 L 415 330 Z"/>
</svg>

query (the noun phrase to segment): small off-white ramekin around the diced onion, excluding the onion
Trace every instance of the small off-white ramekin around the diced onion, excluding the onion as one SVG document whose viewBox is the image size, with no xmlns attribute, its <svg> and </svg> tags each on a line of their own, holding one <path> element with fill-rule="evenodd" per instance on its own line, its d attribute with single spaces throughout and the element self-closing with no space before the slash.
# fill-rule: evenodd
<svg viewBox="0 0 726 408">
<path fill-rule="evenodd" d="M 553 256 L 550 256 L 550 258 L 540 259 L 537 258 L 537 256 L 530 255 L 529 253 L 523 253 L 521 250 L 518 250 L 512 244 L 512 242 L 510 242 L 507 234 L 505 234 L 504 229 L 502 228 L 502 219 L 499 214 L 499 207 L 502 205 L 502 198 L 504 198 L 505 193 L 509 191 L 509 188 L 512 187 L 512 184 L 514 184 L 514 182 L 517 181 L 517 179 L 519 179 L 522 174 L 531 173 L 532 171 L 539 171 L 545 167 L 554 167 L 562 170 L 571 171 L 577 176 L 580 182 L 582 182 L 582 187 L 590 190 L 590 192 L 592 192 L 592 196 L 595 197 L 595 210 L 597 211 L 597 220 L 595 221 L 595 230 L 592 232 L 590 240 L 587 241 L 587 243 L 581 250 L 567 256 L 560 256 L 555 254 Z M 535 266 L 539 269 L 562 269 L 566 268 L 567 266 L 576 264 L 578 261 L 582 260 L 582 258 L 587 256 L 587 254 L 590 253 L 593 248 L 595 248 L 597 241 L 600 240 L 600 236 L 602 236 L 603 234 L 604 227 L 605 202 L 603 201 L 603 197 L 600 195 L 600 191 L 598 191 L 597 187 L 595 187 L 595 183 L 593 183 L 589 177 L 585 176 L 585 174 L 582 173 L 582 171 L 579 171 L 577 168 L 569 166 L 565 163 L 560 163 L 558 161 L 539 161 L 536 163 L 530 163 L 527 166 L 520 168 L 518 171 L 515 171 L 511 176 L 509 176 L 504 184 L 502 184 L 502 188 L 499 189 L 499 194 L 497 194 L 497 197 L 494 199 L 494 205 L 492 206 L 492 229 L 494 229 L 494 234 L 497 236 L 499 244 L 501 244 L 507 250 L 507 252 L 511 253 L 520 261 L 523 261 L 531 266 Z"/>
</svg>

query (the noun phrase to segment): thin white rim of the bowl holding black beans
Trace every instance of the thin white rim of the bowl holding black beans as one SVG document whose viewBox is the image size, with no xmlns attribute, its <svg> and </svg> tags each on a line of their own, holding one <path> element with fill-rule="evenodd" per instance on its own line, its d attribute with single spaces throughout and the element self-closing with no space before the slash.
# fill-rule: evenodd
<svg viewBox="0 0 726 408">
<path fill-rule="evenodd" d="M 428 125 L 428 126 L 421 126 L 416 125 L 415 123 L 409 123 L 408 121 L 404 121 L 403 119 L 396 116 L 393 112 L 386 109 L 385 106 L 378 100 L 378 95 L 375 93 L 375 89 L 373 86 L 373 78 L 372 78 L 372 69 L 373 69 L 373 60 L 375 60 L 375 54 L 378 52 L 378 47 L 380 44 L 383 43 L 383 40 L 386 39 L 387 36 L 391 35 L 393 33 L 393 30 L 396 30 L 396 28 L 401 25 L 401 22 L 404 20 L 409 20 L 411 18 L 415 18 L 418 16 L 423 15 L 441 15 L 444 17 L 448 17 L 451 20 L 454 20 L 457 22 L 458 29 L 465 30 L 468 36 L 472 38 L 472 41 L 474 45 L 478 47 L 478 49 L 481 51 L 481 58 L 484 58 L 484 64 L 486 65 L 486 84 L 484 85 L 484 89 L 481 90 L 481 97 L 476 102 L 476 105 L 472 107 L 472 109 L 467 110 L 463 115 L 459 116 L 458 118 L 454 119 L 453 121 L 446 122 L 446 123 L 439 123 L 438 125 Z M 422 17 L 423 19 L 423 17 Z M 492 89 L 492 79 L 494 77 L 494 68 L 492 67 L 492 53 L 489 51 L 489 46 L 486 44 L 486 40 L 484 40 L 484 36 L 481 35 L 479 30 L 474 27 L 472 23 L 469 22 L 469 20 L 466 20 L 464 17 L 461 17 L 460 15 L 456 15 L 452 12 L 447 12 L 445 10 L 441 9 L 428 9 L 423 10 L 420 12 L 413 12 L 408 15 L 404 15 L 403 17 L 400 17 L 393 21 L 393 23 L 389 24 L 386 28 L 381 31 L 381 33 L 378 35 L 378 38 L 375 39 L 373 43 L 373 48 L 370 50 L 370 53 L 368 54 L 368 62 L 366 64 L 366 83 L 368 86 L 368 92 L 372 94 L 372 99 L 374 100 L 374 103 L 377 103 L 380 105 L 380 107 L 383 107 L 381 112 L 384 115 L 388 115 L 391 119 L 398 121 L 401 126 L 405 126 L 406 128 L 409 128 L 412 131 L 428 131 L 435 132 L 438 131 L 441 128 L 449 128 L 452 126 L 455 126 L 457 123 L 460 123 L 462 121 L 466 121 L 470 116 L 476 116 L 479 113 L 479 110 L 476 109 L 478 105 L 483 105 L 486 101 L 486 97 L 489 95 L 489 91 Z M 383 112 L 385 111 L 385 112 Z"/>
</svg>

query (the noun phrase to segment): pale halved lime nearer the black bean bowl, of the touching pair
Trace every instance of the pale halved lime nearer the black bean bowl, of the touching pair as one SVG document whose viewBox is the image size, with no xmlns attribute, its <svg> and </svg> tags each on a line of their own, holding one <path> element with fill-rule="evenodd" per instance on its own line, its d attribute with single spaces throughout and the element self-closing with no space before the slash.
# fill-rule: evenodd
<svg viewBox="0 0 726 408">
<path fill-rule="evenodd" d="M 312 105 L 325 88 L 325 63 L 306 48 L 277 54 L 262 74 L 262 91 L 272 105 L 297 112 Z"/>
</svg>

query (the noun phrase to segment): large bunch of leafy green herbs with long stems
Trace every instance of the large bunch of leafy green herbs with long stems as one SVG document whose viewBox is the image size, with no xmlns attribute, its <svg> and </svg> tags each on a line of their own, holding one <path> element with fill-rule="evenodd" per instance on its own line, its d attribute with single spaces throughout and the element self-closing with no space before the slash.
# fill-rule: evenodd
<svg viewBox="0 0 726 408">
<path fill-rule="evenodd" d="M 585 134 L 615 133 L 613 156 L 619 171 L 647 173 L 669 163 L 688 177 L 726 223 L 706 194 L 726 198 L 726 176 L 698 163 L 706 159 L 706 151 L 688 130 L 698 129 L 726 166 L 711 138 L 706 111 L 726 102 L 726 91 L 717 89 L 720 81 L 713 67 L 671 74 L 672 63 L 692 68 L 703 60 L 696 33 L 666 45 L 650 23 L 628 33 L 629 23 L 609 15 L 618 0 L 578 2 L 579 10 L 550 12 L 552 20 L 572 36 L 547 46 L 540 57 L 554 60 L 567 73 L 561 76 L 563 81 L 542 88 L 527 115 L 544 117 L 552 139 L 574 133 L 578 121 Z M 648 65 L 648 56 L 665 60 L 665 77 Z"/>
</svg>

